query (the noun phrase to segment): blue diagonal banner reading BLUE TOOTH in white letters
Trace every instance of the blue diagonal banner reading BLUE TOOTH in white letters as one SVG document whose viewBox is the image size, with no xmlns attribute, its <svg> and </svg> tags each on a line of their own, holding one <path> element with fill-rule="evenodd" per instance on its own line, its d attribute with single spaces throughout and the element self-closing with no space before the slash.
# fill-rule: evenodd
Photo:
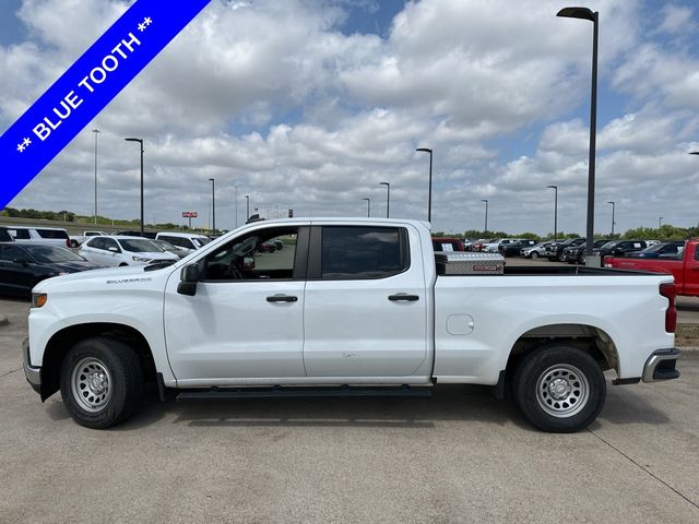
<svg viewBox="0 0 699 524">
<path fill-rule="evenodd" d="M 0 136 L 0 209 L 211 0 L 138 0 Z"/>
</svg>

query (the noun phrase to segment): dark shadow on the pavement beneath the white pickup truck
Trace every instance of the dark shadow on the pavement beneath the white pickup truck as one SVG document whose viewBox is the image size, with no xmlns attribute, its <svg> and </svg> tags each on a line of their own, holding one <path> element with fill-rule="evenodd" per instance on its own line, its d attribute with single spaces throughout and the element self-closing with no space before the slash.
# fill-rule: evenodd
<svg viewBox="0 0 699 524">
<path fill-rule="evenodd" d="M 190 427 L 348 427 L 435 429 L 438 422 L 479 421 L 537 431 L 510 401 L 497 401 L 489 388 L 441 385 L 431 398 L 265 398 L 162 403 L 150 391 L 143 408 L 115 431 L 130 431 L 161 419 Z M 670 418 L 630 389 L 609 384 L 600 419 L 608 424 L 664 424 Z M 595 421 L 591 428 L 597 427 Z"/>
</svg>

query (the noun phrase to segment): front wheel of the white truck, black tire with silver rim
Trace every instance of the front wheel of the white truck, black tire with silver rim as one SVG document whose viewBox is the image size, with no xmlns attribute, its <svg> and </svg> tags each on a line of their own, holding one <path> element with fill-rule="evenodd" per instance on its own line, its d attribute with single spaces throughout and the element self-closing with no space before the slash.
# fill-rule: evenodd
<svg viewBox="0 0 699 524">
<path fill-rule="evenodd" d="M 143 398 L 139 357 L 115 338 L 96 336 L 71 347 L 61 365 L 60 383 L 71 417 L 93 429 L 121 424 Z"/>
</svg>

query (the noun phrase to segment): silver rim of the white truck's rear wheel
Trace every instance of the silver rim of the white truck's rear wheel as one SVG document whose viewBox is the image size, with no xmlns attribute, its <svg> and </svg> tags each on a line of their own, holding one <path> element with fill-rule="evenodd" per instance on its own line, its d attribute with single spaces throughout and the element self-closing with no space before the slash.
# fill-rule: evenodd
<svg viewBox="0 0 699 524">
<path fill-rule="evenodd" d="M 589 398 L 587 377 L 569 364 L 552 366 L 536 381 L 536 401 L 552 417 L 572 417 L 585 407 Z"/>
</svg>

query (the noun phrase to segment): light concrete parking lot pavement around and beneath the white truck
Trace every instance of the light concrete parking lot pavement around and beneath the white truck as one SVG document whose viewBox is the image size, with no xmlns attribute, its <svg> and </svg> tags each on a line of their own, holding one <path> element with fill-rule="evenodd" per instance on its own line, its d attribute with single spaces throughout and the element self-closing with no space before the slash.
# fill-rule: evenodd
<svg viewBox="0 0 699 524">
<path fill-rule="evenodd" d="M 699 522 L 699 354 L 608 385 L 577 434 L 488 389 L 429 400 L 159 403 L 79 427 L 25 382 L 27 302 L 0 300 L 0 522 Z"/>
</svg>

